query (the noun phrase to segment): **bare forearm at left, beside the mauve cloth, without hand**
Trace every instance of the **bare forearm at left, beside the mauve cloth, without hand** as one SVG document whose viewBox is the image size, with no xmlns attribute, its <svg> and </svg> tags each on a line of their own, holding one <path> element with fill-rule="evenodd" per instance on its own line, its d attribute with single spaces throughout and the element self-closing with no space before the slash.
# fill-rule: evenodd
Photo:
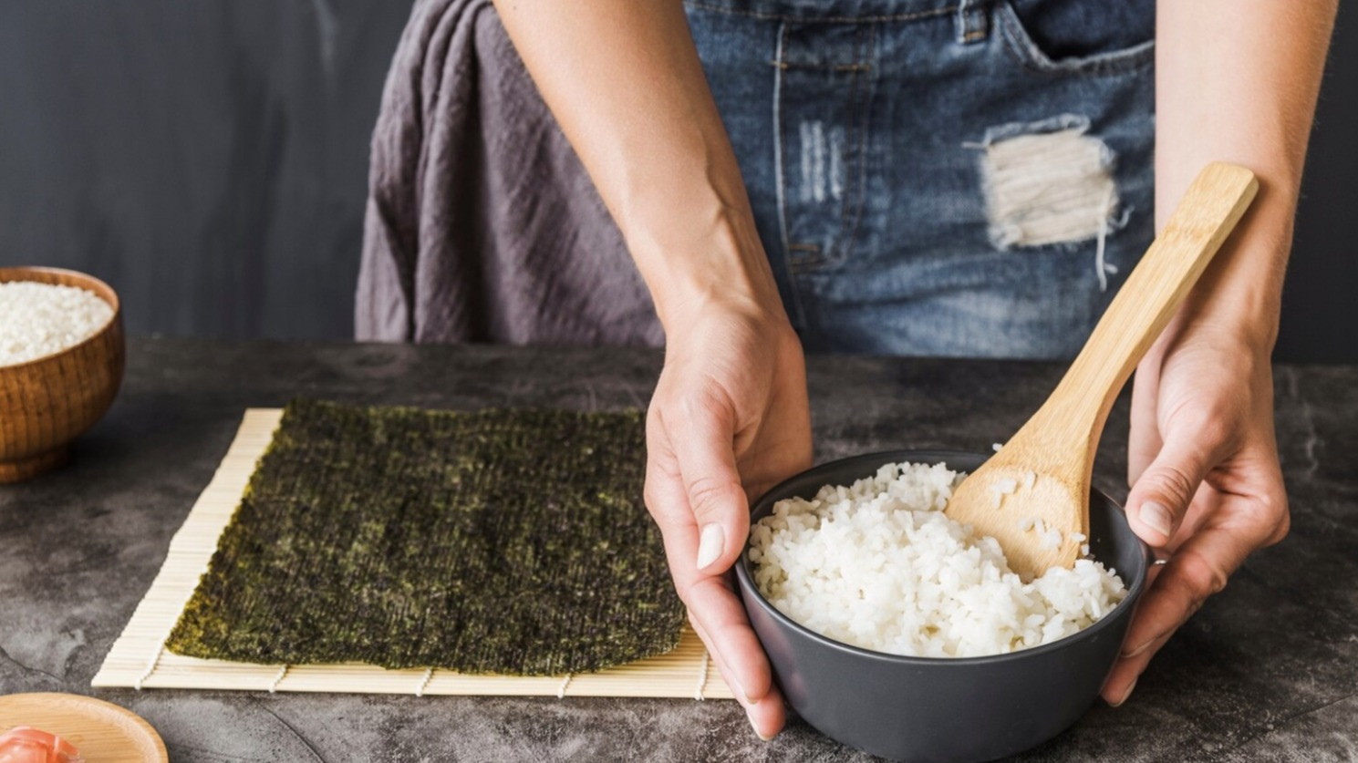
<svg viewBox="0 0 1358 763">
<path fill-rule="evenodd" d="M 667 330 L 709 299 L 777 307 L 740 168 L 678 0 L 497 0 Z"/>
</svg>

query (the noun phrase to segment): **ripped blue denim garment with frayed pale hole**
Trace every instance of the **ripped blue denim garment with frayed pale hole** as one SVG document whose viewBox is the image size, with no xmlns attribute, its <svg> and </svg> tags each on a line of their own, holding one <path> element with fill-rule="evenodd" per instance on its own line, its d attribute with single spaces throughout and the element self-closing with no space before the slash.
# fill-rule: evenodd
<svg viewBox="0 0 1358 763">
<path fill-rule="evenodd" d="M 687 11 L 808 352 L 1080 349 L 1153 236 L 1152 0 Z"/>
</svg>

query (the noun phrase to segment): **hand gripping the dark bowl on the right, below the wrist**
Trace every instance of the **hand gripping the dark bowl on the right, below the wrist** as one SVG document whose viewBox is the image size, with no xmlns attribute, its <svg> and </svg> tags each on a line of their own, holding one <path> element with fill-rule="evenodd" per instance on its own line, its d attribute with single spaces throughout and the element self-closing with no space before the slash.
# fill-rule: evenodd
<svg viewBox="0 0 1358 763">
<path fill-rule="evenodd" d="M 1153 567 L 1103 696 L 1122 705 L 1150 658 L 1256 548 L 1287 535 L 1268 350 L 1176 320 L 1137 368 L 1127 517 Z"/>
</svg>

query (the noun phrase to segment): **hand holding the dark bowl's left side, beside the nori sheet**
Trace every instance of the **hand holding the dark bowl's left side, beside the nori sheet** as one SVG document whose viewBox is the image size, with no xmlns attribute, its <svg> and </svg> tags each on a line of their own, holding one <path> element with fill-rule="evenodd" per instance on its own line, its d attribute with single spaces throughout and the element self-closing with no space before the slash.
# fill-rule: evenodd
<svg viewBox="0 0 1358 763">
<path fill-rule="evenodd" d="M 750 500 L 811 466 L 801 343 L 781 305 L 744 300 L 703 301 L 668 324 L 646 417 L 646 506 L 689 620 L 767 740 L 782 698 L 725 573 L 750 532 Z"/>
</svg>

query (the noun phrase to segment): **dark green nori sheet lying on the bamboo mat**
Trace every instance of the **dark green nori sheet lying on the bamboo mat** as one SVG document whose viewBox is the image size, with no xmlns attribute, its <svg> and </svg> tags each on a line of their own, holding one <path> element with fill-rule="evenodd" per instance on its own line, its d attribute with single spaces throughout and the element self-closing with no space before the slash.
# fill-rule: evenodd
<svg viewBox="0 0 1358 763">
<path fill-rule="evenodd" d="M 684 608 L 640 411 L 288 403 L 167 648 L 265 664 L 589 672 Z"/>
</svg>

